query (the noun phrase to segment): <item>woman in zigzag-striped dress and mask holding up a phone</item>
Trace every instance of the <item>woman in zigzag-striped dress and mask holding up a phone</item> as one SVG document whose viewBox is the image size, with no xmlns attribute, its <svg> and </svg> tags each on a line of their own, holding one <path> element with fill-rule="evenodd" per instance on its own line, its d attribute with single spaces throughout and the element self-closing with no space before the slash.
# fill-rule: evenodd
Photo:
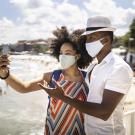
<svg viewBox="0 0 135 135">
<path fill-rule="evenodd" d="M 44 81 L 46 81 L 50 87 L 55 87 L 53 83 L 54 80 L 64 89 L 66 95 L 85 101 L 88 88 L 84 82 L 85 72 L 81 71 L 80 68 L 88 65 L 90 59 L 86 58 L 85 61 L 82 61 L 81 53 L 78 50 L 77 41 L 81 33 L 81 31 L 75 31 L 69 34 L 66 27 L 61 27 L 61 29 L 57 29 L 53 32 L 56 38 L 52 43 L 52 54 L 60 61 L 61 70 L 44 73 L 42 78 L 24 84 L 24 82 L 9 73 L 7 57 L 3 56 L 0 62 L 1 78 L 5 79 L 7 84 L 13 89 L 21 93 L 41 90 L 38 84 L 43 84 Z M 50 97 L 45 122 L 45 135 L 84 134 L 83 113 L 61 100 Z"/>
</svg>

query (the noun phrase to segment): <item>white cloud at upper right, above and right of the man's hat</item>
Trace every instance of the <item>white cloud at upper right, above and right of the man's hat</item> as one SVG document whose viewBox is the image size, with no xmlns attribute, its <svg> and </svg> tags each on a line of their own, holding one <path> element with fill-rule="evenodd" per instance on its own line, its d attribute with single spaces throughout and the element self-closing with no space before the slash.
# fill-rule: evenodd
<svg viewBox="0 0 135 135">
<path fill-rule="evenodd" d="M 124 9 L 113 0 L 88 0 L 84 3 L 89 16 L 103 15 L 111 19 L 112 25 L 117 28 L 117 35 L 124 35 L 128 26 L 135 17 L 135 9 Z M 122 33 L 123 32 L 123 33 Z"/>
</svg>

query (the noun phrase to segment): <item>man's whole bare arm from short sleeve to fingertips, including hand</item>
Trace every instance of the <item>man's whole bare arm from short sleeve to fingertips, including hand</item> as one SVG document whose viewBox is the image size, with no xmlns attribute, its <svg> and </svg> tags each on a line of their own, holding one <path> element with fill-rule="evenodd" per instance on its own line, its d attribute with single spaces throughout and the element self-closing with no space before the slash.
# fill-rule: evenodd
<svg viewBox="0 0 135 135">
<path fill-rule="evenodd" d="M 65 103 L 78 109 L 80 112 L 88 115 L 107 120 L 112 114 L 115 107 L 118 105 L 124 94 L 111 90 L 104 90 L 103 100 L 101 104 L 84 102 L 78 99 L 71 98 L 64 94 L 63 89 L 56 83 L 55 89 L 50 89 L 45 85 L 39 84 L 51 97 L 63 100 Z"/>
</svg>

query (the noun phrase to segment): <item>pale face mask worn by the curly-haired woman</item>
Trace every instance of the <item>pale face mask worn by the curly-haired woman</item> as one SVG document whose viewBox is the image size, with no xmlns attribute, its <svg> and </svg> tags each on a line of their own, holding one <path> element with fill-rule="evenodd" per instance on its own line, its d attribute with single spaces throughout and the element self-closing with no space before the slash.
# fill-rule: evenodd
<svg viewBox="0 0 135 135">
<path fill-rule="evenodd" d="M 63 55 L 62 54 L 59 56 L 59 60 L 60 60 L 62 69 L 69 68 L 76 62 L 75 56 L 72 56 L 72 55 Z"/>
</svg>

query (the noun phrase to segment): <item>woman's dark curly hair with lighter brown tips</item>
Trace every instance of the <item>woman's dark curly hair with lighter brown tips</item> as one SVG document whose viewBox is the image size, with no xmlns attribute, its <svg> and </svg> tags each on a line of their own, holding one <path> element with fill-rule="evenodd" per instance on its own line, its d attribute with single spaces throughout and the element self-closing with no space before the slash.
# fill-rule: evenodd
<svg viewBox="0 0 135 135">
<path fill-rule="evenodd" d="M 64 43 L 70 43 L 77 54 L 80 54 L 80 58 L 77 60 L 77 66 L 79 68 L 86 68 L 92 61 L 92 58 L 88 55 L 85 49 L 85 38 L 81 38 L 81 34 L 84 29 L 74 30 L 69 33 L 65 26 L 57 28 L 53 31 L 55 38 L 52 39 L 50 49 L 52 56 L 56 57 L 59 61 L 60 48 Z"/>
</svg>

